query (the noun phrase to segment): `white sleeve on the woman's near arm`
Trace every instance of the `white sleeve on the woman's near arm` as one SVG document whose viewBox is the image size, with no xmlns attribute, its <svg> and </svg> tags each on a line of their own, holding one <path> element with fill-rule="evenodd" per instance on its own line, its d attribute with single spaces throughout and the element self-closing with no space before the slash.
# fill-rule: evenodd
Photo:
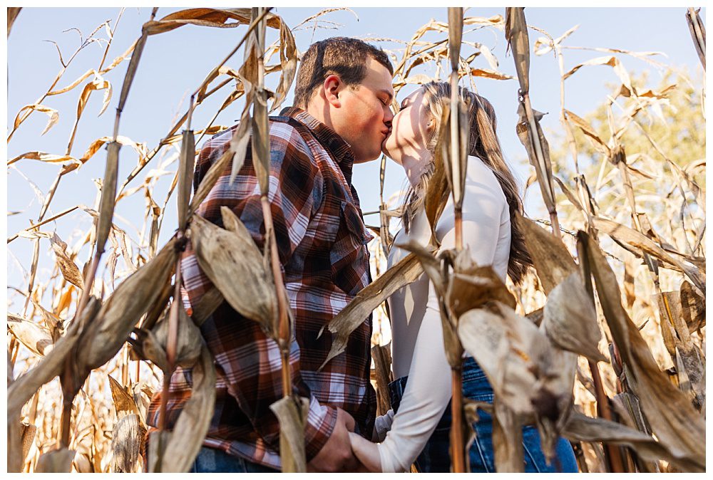
<svg viewBox="0 0 713 480">
<path fill-rule="evenodd" d="M 490 173 L 490 172 L 488 172 Z M 493 184 L 495 182 L 495 184 Z M 438 221 L 436 234 L 441 249 L 455 248 L 456 231 L 452 202 Z M 494 176 L 466 185 L 463 202 L 463 247 L 479 265 L 490 265 L 500 235 L 501 215 L 506 200 Z M 438 295 L 429 282 L 426 313 L 416 337 L 404 397 L 391 430 L 379 444 L 381 470 L 408 471 L 434 433 L 451 400 L 451 367 L 443 345 Z"/>
</svg>

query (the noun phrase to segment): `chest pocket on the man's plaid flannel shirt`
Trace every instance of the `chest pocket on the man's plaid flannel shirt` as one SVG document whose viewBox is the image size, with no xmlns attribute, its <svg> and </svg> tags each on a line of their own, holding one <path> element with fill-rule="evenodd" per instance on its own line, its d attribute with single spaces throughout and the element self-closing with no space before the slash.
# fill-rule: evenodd
<svg viewBox="0 0 713 480">
<path fill-rule="evenodd" d="M 354 296 L 369 283 L 366 244 L 374 237 L 366 231 L 361 213 L 354 204 L 342 200 L 339 210 L 339 231 L 330 254 L 332 280 L 337 288 Z"/>
</svg>

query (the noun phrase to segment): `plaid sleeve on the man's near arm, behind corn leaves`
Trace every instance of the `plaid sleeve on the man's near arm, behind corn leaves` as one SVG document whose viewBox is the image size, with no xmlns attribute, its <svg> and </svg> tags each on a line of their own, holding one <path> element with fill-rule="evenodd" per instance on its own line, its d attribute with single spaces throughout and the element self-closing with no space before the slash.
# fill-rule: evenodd
<svg viewBox="0 0 713 480">
<path fill-rule="evenodd" d="M 275 140 L 275 141 L 272 141 Z M 307 155 L 298 148 L 302 138 L 296 132 L 289 141 L 271 137 L 270 190 L 268 199 L 275 227 L 279 260 L 284 265 L 291 258 L 307 231 L 312 213 L 322 201 L 322 174 Z M 210 142 L 200 152 L 197 174 L 205 164 L 215 162 L 229 148 L 229 142 L 212 147 Z M 250 152 L 250 148 L 248 148 Z M 250 155 L 248 155 L 249 157 Z M 196 187 L 200 179 L 196 179 Z M 217 180 L 198 214 L 222 226 L 220 207 L 227 206 L 245 224 L 260 249 L 265 242 L 265 226 L 260 202 L 260 186 L 250 158 L 245 160 L 235 181 L 230 184 L 230 165 Z M 188 245 L 182 260 L 183 285 L 188 303 L 195 305 L 212 283 L 198 266 L 195 253 Z M 270 405 L 282 398 L 282 360 L 275 340 L 269 338 L 258 323 L 243 317 L 227 303 L 203 323 L 202 334 L 215 357 L 227 390 L 235 397 L 252 426 L 273 450 L 279 451 L 279 423 Z M 289 355 L 293 392 L 309 399 L 305 426 L 307 460 L 314 457 L 332 434 L 337 420 L 333 407 L 320 405 L 312 395 L 299 369 L 299 345 L 292 337 Z"/>
</svg>

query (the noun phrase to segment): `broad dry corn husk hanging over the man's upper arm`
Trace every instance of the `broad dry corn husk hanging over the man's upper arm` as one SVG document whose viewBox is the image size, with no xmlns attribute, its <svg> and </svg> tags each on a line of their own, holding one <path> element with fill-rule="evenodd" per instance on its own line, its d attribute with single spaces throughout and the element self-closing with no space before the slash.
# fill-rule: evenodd
<svg viewBox="0 0 713 480">
<path fill-rule="evenodd" d="M 234 231 L 193 216 L 191 241 L 198 264 L 232 308 L 271 332 L 277 298 L 272 279 L 263 267 L 262 254 L 237 216 L 227 207 L 220 211 L 223 224 L 234 226 Z"/>
</svg>

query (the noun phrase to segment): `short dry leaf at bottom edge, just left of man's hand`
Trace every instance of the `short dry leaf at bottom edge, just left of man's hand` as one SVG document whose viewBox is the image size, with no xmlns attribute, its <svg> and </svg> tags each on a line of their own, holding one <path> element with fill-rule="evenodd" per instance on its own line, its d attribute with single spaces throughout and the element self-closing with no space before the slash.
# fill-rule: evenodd
<svg viewBox="0 0 713 480">
<path fill-rule="evenodd" d="M 307 422 L 309 400 L 304 397 L 282 397 L 270 405 L 279 422 L 279 458 L 282 473 L 304 473 L 304 424 Z"/>
</svg>

